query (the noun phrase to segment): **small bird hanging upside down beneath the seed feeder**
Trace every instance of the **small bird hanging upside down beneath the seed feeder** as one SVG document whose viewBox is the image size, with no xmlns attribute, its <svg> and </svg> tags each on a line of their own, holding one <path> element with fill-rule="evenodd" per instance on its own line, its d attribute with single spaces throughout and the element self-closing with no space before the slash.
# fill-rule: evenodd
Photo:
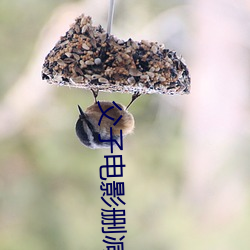
<svg viewBox="0 0 250 250">
<path fill-rule="evenodd" d="M 92 92 L 95 98 L 93 105 L 88 107 L 85 112 L 78 105 L 80 114 L 76 122 L 76 134 L 88 148 L 108 148 L 110 147 L 108 141 L 110 140 L 110 127 L 112 127 L 112 138 L 117 141 L 120 140 L 120 130 L 122 130 L 122 137 L 133 132 L 135 126 L 134 117 L 128 112 L 127 108 L 138 97 L 138 94 L 136 98 L 133 99 L 132 97 L 132 101 L 126 108 L 122 104 L 114 102 L 97 102 L 98 92 L 93 90 Z"/>
</svg>

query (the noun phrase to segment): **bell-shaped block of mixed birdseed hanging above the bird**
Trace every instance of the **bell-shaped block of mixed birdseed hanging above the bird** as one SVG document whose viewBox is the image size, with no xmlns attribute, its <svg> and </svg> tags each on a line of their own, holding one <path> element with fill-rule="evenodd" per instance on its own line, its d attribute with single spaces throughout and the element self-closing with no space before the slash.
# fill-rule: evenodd
<svg viewBox="0 0 250 250">
<path fill-rule="evenodd" d="M 106 92 L 188 94 L 182 57 L 157 42 L 123 41 L 81 15 L 45 58 L 43 80 Z"/>
</svg>

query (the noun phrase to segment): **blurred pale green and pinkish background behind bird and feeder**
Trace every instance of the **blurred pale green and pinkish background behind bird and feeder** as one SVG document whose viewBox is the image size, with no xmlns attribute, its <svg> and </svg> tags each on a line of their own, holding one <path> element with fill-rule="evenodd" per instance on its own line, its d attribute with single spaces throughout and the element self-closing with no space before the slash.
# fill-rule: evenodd
<svg viewBox="0 0 250 250">
<path fill-rule="evenodd" d="M 104 249 L 99 167 L 77 104 L 90 91 L 41 80 L 74 18 L 106 27 L 109 1 L 0 2 L 0 249 Z M 250 2 L 118 1 L 114 35 L 164 43 L 186 59 L 189 96 L 147 95 L 124 141 L 125 249 L 250 249 Z M 127 94 L 100 99 L 126 105 Z"/>
</svg>

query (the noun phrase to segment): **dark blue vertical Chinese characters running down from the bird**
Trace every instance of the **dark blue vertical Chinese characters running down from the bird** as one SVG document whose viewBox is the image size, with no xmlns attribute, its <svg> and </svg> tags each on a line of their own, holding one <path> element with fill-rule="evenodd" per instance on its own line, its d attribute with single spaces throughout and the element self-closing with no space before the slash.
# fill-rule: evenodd
<svg viewBox="0 0 250 250">
<path fill-rule="evenodd" d="M 116 126 L 122 118 L 122 115 L 119 116 L 116 120 L 113 117 L 110 117 L 107 112 L 111 109 L 121 108 L 113 102 L 114 106 L 109 107 L 105 111 L 103 111 L 100 103 L 98 102 L 98 106 L 102 112 L 98 125 L 101 125 L 102 118 L 106 116 L 108 119 L 114 121 L 113 126 Z M 120 233 L 121 237 L 114 238 L 109 235 L 105 235 L 105 239 L 103 242 L 106 244 L 106 249 L 124 249 L 123 239 L 125 238 L 124 233 L 127 233 L 125 228 L 126 225 L 126 211 L 124 209 L 125 201 L 125 183 L 120 180 L 108 181 L 109 178 L 120 178 L 123 177 L 123 168 L 126 167 L 123 164 L 122 155 L 114 155 L 113 154 L 113 146 L 114 144 L 118 146 L 120 150 L 123 150 L 123 136 L 122 130 L 120 130 L 120 142 L 117 142 L 117 137 L 113 136 L 113 129 L 110 127 L 110 137 L 109 139 L 101 138 L 101 135 L 98 135 L 100 142 L 105 142 L 110 145 L 111 154 L 105 155 L 104 158 L 106 160 L 106 164 L 100 166 L 99 175 L 101 179 L 100 190 L 103 191 L 101 200 L 105 205 L 105 209 L 101 209 L 101 218 L 102 218 L 102 233 L 104 234 L 113 234 Z M 119 208 L 118 208 L 119 207 Z"/>
</svg>

